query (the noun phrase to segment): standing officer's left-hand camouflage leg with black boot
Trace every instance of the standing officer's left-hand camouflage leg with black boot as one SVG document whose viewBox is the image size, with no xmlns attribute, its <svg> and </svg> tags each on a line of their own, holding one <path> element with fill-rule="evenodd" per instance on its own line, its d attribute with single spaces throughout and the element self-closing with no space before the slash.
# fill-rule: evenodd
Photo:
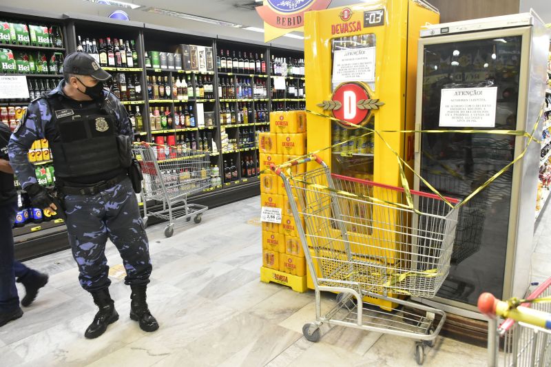
<svg viewBox="0 0 551 367">
<path fill-rule="evenodd" d="M 79 266 L 79 281 L 92 294 L 99 311 L 85 332 L 93 339 L 105 333 L 107 326 L 118 319 L 109 293 L 111 281 L 105 258 L 107 229 L 103 222 L 105 202 L 101 195 L 65 196 L 67 234 L 73 258 Z"/>
</svg>

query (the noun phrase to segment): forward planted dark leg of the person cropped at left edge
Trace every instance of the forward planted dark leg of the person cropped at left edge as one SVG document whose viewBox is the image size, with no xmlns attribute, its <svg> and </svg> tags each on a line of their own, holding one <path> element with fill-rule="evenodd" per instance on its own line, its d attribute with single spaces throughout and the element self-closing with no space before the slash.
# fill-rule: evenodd
<svg viewBox="0 0 551 367">
<path fill-rule="evenodd" d="M 15 286 L 13 205 L 0 205 L 0 326 L 23 315 Z"/>
</svg>

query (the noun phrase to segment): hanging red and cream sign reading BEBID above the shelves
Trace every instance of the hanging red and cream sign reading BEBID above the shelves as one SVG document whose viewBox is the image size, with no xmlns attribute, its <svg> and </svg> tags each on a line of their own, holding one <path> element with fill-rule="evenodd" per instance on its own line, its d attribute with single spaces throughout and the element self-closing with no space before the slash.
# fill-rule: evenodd
<svg viewBox="0 0 551 367">
<path fill-rule="evenodd" d="M 264 20 L 264 42 L 293 31 L 302 31 L 304 13 L 324 10 L 331 0 L 264 0 L 256 11 Z"/>
</svg>

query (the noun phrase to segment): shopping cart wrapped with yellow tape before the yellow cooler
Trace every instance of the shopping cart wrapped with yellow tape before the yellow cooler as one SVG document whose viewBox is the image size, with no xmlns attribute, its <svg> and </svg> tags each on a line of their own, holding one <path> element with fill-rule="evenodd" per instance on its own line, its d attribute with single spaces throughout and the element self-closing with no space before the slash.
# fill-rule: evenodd
<svg viewBox="0 0 551 367">
<path fill-rule="evenodd" d="M 312 160 L 320 167 L 291 174 L 291 166 Z M 411 191 L 415 211 L 406 205 L 404 189 L 331 174 L 318 156 L 271 168 L 283 179 L 288 198 L 294 198 L 289 204 L 315 284 L 316 320 L 304 325 L 304 337 L 318 342 L 322 324 L 410 337 L 417 339 L 415 359 L 422 364 L 424 346 L 433 345 L 446 315 L 403 299 L 434 297 L 444 282 L 457 210 L 438 196 Z M 321 291 L 340 293 L 326 315 Z M 377 308 L 362 302 L 365 296 L 398 306 Z"/>
</svg>

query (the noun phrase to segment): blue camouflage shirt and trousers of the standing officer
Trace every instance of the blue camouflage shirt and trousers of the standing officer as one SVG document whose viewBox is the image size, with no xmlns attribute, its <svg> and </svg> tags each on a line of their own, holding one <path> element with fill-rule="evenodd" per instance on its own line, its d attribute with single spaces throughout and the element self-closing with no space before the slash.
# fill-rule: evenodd
<svg viewBox="0 0 551 367">
<path fill-rule="evenodd" d="M 63 94 L 64 81 L 48 94 L 59 94 L 72 103 L 78 111 L 83 103 L 71 100 Z M 104 92 L 107 96 L 107 92 Z M 118 134 L 133 136 L 132 126 L 124 106 L 110 94 L 106 106 L 114 112 Z M 12 134 L 8 145 L 10 164 L 23 188 L 37 182 L 34 166 L 28 161 L 27 152 L 34 140 L 46 138 L 53 142 L 58 132 L 52 120 L 52 111 L 45 98 L 37 98 L 28 107 L 19 129 Z M 58 137 L 59 138 L 59 137 Z M 53 156 L 56 159 L 56 156 Z M 105 243 L 110 238 L 121 253 L 127 272 L 125 284 L 149 283 L 152 264 L 149 244 L 138 210 L 136 195 L 129 178 L 96 195 L 65 195 L 67 233 L 74 260 L 79 265 L 79 280 L 89 292 L 107 289 L 110 285 L 109 266 L 105 258 Z"/>
</svg>

